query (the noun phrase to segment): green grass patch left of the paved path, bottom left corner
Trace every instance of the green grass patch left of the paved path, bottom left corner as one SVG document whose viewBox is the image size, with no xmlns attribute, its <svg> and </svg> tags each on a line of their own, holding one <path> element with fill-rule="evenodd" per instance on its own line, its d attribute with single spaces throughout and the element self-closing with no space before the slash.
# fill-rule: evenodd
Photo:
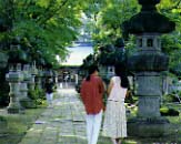
<svg viewBox="0 0 181 144">
<path fill-rule="evenodd" d="M 3 114 L 7 126 L 0 128 L 0 144 L 18 144 L 44 109 L 26 110 L 24 114 Z"/>
</svg>

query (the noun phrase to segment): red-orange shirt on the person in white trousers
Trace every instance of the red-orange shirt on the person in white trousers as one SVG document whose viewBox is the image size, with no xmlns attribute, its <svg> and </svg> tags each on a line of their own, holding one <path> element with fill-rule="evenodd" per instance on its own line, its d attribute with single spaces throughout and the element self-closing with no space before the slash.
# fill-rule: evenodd
<svg viewBox="0 0 181 144">
<path fill-rule="evenodd" d="M 104 109 L 103 105 L 104 86 L 102 80 L 97 75 L 91 75 L 90 81 L 83 80 L 81 84 L 81 99 L 87 114 L 97 114 Z"/>
</svg>

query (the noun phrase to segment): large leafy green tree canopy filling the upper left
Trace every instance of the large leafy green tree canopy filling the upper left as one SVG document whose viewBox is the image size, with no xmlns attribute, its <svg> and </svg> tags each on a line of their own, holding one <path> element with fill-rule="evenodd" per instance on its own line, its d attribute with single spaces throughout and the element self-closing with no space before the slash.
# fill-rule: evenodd
<svg viewBox="0 0 181 144">
<path fill-rule="evenodd" d="M 57 55 L 66 59 L 66 48 L 78 37 L 82 7 L 81 0 L 0 0 L 0 50 L 11 62 L 59 65 Z M 12 44 L 20 49 L 11 50 Z M 0 91 L 6 90 L 6 72 L 0 73 Z M 0 99 L 2 93 L 7 97 L 8 90 Z"/>
</svg>

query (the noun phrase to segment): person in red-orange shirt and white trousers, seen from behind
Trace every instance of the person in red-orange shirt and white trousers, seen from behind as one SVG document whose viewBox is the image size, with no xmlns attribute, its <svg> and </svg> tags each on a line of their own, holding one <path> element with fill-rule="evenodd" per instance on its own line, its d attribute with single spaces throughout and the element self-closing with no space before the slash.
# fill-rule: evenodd
<svg viewBox="0 0 181 144">
<path fill-rule="evenodd" d="M 87 112 L 87 136 L 88 144 L 97 144 L 99 132 L 102 122 L 103 105 L 103 93 L 104 86 L 103 81 L 99 74 L 97 65 L 89 68 L 89 75 L 82 81 L 80 88 L 80 95 L 84 104 Z"/>
</svg>

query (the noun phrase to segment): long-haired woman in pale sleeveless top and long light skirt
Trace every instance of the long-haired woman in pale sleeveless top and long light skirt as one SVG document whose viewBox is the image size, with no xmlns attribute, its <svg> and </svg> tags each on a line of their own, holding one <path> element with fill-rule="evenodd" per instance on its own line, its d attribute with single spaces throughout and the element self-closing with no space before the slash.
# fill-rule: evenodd
<svg viewBox="0 0 181 144">
<path fill-rule="evenodd" d="M 121 144 L 121 138 L 127 137 L 124 99 L 129 88 L 129 80 L 122 64 L 114 66 L 114 73 L 115 76 L 111 78 L 108 86 L 102 135 L 110 137 L 113 144 Z"/>
</svg>

